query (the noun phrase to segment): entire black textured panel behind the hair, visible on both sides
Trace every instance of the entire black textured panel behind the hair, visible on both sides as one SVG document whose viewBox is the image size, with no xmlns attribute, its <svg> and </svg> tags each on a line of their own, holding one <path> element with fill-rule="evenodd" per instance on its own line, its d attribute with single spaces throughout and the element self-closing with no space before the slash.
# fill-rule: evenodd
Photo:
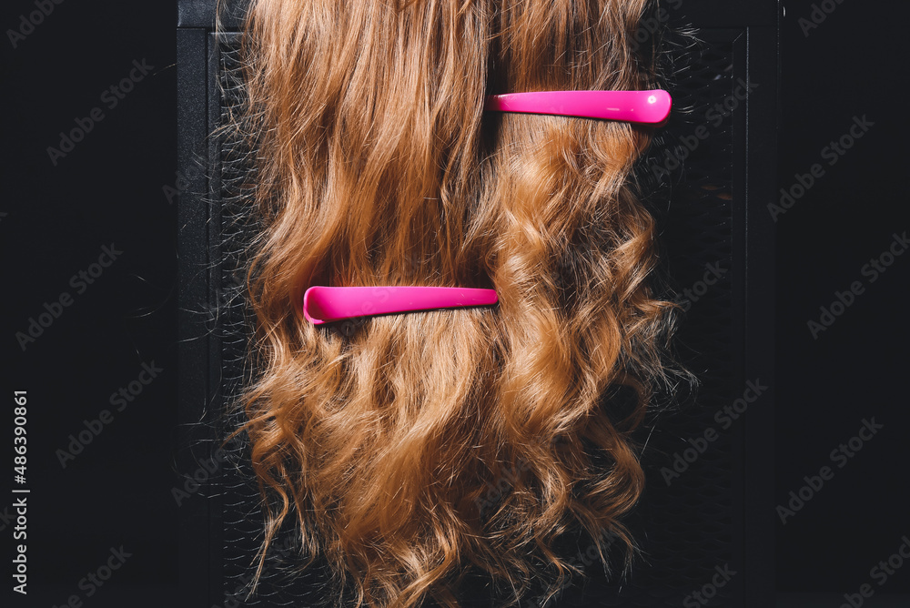
<svg viewBox="0 0 910 608">
<path fill-rule="evenodd" d="M 647 562 L 638 562 L 632 576 L 623 582 L 606 582 L 602 575 L 591 572 L 591 581 L 583 588 L 577 585 L 566 589 L 547 605 L 679 606 L 689 593 L 711 581 L 716 567 L 737 562 L 733 550 L 734 528 L 738 525 L 733 500 L 737 470 L 733 442 L 740 440 L 733 430 L 723 429 L 714 420 L 715 412 L 731 404 L 746 388 L 738 371 L 741 356 L 733 342 L 735 325 L 742 320 L 734 309 L 736 283 L 732 278 L 743 276 L 744 272 L 738 261 L 741 258 L 735 255 L 733 230 L 737 204 L 733 198 L 736 111 L 726 116 L 718 113 L 719 118 L 705 126 L 709 109 L 723 104 L 737 84 L 733 76 L 733 34 L 712 39 L 703 33 L 702 37 L 703 44 L 693 49 L 691 65 L 672 90 L 674 106 L 688 111 L 674 114 L 664 130 L 666 145 L 654 150 L 641 167 L 672 184 L 669 205 L 656 211 L 662 232 L 660 248 L 675 288 L 681 293 L 685 289 L 693 293 L 677 342 L 682 359 L 702 386 L 694 403 L 680 411 L 663 413 L 652 421 L 653 431 L 642 435 L 642 442 L 646 441 L 642 463 L 648 485 L 630 524 Z M 236 111 L 242 102 L 237 43 L 237 35 L 222 38 L 217 48 L 220 67 L 217 74 L 210 76 L 217 78 L 223 91 L 221 124 L 225 124 L 228 112 Z M 213 121 L 216 118 L 210 117 Z M 689 151 L 700 125 L 708 129 L 708 136 L 698 138 L 697 146 Z M 253 177 L 249 162 L 252 151 L 231 137 L 230 132 L 218 141 L 220 179 L 213 196 L 219 213 L 213 220 L 218 222 L 220 231 L 217 333 L 221 345 L 220 405 L 226 414 L 222 431 L 227 434 L 243 420 L 238 411 L 228 410 L 227 404 L 248 376 L 244 361 L 251 319 L 243 285 L 245 250 L 255 227 L 248 224 L 248 199 L 244 194 Z M 688 147 L 686 142 L 690 143 Z M 675 167 L 672 158 L 683 157 L 682 168 Z M 668 160 L 669 164 L 664 164 Z M 669 174 L 654 170 L 654 163 L 669 168 Z M 711 285 L 705 283 L 702 289 L 699 281 L 712 269 L 716 280 Z M 707 428 L 718 432 L 717 439 L 697 459 L 687 463 L 688 470 L 668 484 L 664 476 L 672 470 L 674 454 L 690 448 L 687 440 L 702 437 Z M 320 600 L 330 601 L 319 593 L 319 566 L 302 575 L 294 573 L 297 552 L 293 530 L 279 538 L 278 551 L 268 558 L 258 593 L 246 599 L 263 528 L 247 447 L 242 438 L 227 445 L 230 466 L 225 468 L 221 487 L 226 605 L 311 606 Z M 583 543 L 580 546 L 582 551 L 586 549 Z M 733 583 L 719 587 L 706 605 L 728 605 L 736 589 Z M 470 600 L 468 605 L 482 604 Z M 536 608 L 540 603 L 531 600 L 528 605 Z"/>
</svg>

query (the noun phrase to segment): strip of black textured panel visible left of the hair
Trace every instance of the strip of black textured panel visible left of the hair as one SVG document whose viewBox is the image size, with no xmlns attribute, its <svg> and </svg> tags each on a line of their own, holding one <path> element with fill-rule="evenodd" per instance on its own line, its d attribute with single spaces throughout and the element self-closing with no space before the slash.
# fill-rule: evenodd
<svg viewBox="0 0 910 608">
<path fill-rule="evenodd" d="M 238 35 L 225 35 L 217 45 L 217 78 L 221 92 L 219 124 L 243 103 L 238 65 Z M 258 231 L 248 217 L 248 187 L 255 179 L 254 151 L 231 129 L 217 134 L 220 257 L 217 332 L 221 343 L 222 437 L 245 420 L 237 404 L 247 369 L 253 318 L 246 298 L 248 245 Z M 292 528 L 283 530 L 269 550 L 256 594 L 248 598 L 255 560 L 263 536 L 263 515 L 255 475 L 244 436 L 226 446 L 221 487 L 224 567 L 224 605 L 311 606 L 319 603 L 319 564 L 304 575 L 295 572 L 299 549 Z"/>
</svg>

